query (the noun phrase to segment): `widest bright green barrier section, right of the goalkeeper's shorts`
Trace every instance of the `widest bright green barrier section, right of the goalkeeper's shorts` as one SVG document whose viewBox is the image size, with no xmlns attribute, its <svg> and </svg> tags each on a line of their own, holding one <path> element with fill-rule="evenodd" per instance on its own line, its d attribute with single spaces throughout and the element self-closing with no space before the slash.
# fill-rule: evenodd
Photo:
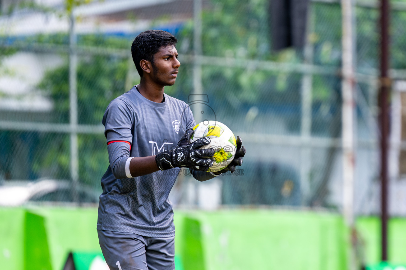
<svg viewBox="0 0 406 270">
<path fill-rule="evenodd" d="M 186 270 L 347 268 L 349 234 L 336 214 L 224 210 L 185 223 Z"/>
</svg>

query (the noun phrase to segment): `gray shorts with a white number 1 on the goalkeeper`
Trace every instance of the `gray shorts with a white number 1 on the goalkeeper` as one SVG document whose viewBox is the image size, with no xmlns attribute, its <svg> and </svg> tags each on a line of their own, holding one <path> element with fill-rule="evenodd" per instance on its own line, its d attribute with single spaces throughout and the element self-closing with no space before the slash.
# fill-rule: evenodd
<svg viewBox="0 0 406 270">
<path fill-rule="evenodd" d="M 97 230 L 111 270 L 174 270 L 175 236 L 147 237 L 130 232 Z"/>
</svg>

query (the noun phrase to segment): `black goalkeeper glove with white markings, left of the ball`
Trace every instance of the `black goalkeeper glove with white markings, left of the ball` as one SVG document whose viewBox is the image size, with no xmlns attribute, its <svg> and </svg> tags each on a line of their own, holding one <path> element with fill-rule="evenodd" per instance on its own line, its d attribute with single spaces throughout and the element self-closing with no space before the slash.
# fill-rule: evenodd
<svg viewBox="0 0 406 270">
<path fill-rule="evenodd" d="M 199 149 L 203 145 L 208 145 L 210 138 L 203 137 L 188 144 L 193 133 L 194 130 L 191 128 L 186 130 L 175 149 L 160 152 L 155 156 L 155 162 L 160 170 L 187 167 L 193 170 L 207 171 L 210 166 L 213 166 L 214 160 L 209 157 L 214 155 L 214 149 Z"/>
</svg>

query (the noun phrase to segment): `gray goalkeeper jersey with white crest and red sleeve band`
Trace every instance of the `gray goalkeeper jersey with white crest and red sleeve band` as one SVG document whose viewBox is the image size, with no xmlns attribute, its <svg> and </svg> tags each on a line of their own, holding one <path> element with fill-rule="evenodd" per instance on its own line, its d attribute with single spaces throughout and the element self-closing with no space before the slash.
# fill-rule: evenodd
<svg viewBox="0 0 406 270">
<path fill-rule="evenodd" d="M 156 103 L 136 87 L 114 99 L 103 116 L 110 166 L 102 177 L 97 230 L 132 232 L 149 237 L 175 235 L 169 192 L 179 168 L 127 178 L 128 157 L 156 155 L 177 145 L 195 125 L 189 106 L 164 94 Z M 199 181 L 212 178 L 199 176 Z"/>
</svg>

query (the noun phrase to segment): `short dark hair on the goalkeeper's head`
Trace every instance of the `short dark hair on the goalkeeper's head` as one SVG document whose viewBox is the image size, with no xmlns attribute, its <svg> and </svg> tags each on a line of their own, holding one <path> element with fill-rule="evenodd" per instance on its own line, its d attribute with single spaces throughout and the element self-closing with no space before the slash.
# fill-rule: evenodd
<svg viewBox="0 0 406 270">
<path fill-rule="evenodd" d="M 163 30 L 147 30 L 140 33 L 131 46 L 132 60 L 137 68 L 140 77 L 143 77 L 143 70 L 140 67 L 141 60 L 150 61 L 153 64 L 153 55 L 162 47 L 176 46 L 177 39 L 169 32 Z"/>
</svg>

